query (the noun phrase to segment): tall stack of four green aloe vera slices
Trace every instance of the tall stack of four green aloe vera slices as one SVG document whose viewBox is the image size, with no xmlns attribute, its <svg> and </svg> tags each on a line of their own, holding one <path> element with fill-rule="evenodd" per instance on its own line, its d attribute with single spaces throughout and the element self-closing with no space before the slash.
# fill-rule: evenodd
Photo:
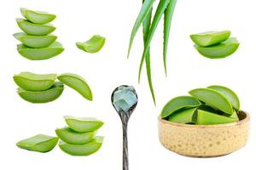
<svg viewBox="0 0 256 170">
<path fill-rule="evenodd" d="M 49 24 L 55 20 L 55 14 L 32 11 L 20 8 L 25 19 L 16 19 L 20 29 L 24 32 L 14 34 L 14 37 L 21 42 L 17 45 L 20 55 L 26 59 L 40 60 L 49 59 L 61 54 L 64 48 L 57 37 L 50 34 L 55 31 L 55 26 Z"/>
</svg>

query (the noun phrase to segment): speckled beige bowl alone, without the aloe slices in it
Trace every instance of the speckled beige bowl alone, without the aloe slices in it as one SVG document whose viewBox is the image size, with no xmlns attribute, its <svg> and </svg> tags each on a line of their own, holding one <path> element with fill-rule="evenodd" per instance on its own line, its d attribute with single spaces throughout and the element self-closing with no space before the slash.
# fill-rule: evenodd
<svg viewBox="0 0 256 170">
<path fill-rule="evenodd" d="M 189 125 L 159 117 L 160 142 L 183 156 L 224 156 L 241 149 L 248 139 L 250 118 L 240 111 L 239 122 L 219 125 Z"/>
</svg>

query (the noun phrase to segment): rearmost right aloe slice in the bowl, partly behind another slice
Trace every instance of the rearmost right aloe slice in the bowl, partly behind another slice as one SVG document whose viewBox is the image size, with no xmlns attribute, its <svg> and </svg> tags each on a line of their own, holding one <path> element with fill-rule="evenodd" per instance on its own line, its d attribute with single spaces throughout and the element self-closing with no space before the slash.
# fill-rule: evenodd
<svg viewBox="0 0 256 170">
<path fill-rule="evenodd" d="M 230 88 L 218 85 L 209 86 L 208 88 L 212 88 L 213 90 L 217 90 L 220 94 L 223 94 L 224 97 L 230 101 L 230 104 L 236 109 L 236 111 L 240 110 L 240 101 L 235 92 Z"/>
</svg>

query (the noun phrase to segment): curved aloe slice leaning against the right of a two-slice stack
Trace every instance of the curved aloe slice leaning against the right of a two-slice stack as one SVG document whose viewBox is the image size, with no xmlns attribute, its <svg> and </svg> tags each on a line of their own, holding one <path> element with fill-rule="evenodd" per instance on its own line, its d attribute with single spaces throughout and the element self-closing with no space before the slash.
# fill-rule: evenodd
<svg viewBox="0 0 256 170">
<path fill-rule="evenodd" d="M 83 77 L 73 73 L 63 73 L 57 77 L 59 81 L 66 84 L 68 87 L 73 88 L 79 94 L 81 94 L 85 99 L 92 101 L 92 92 L 90 86 L 84 80 Z"/>
</svg>

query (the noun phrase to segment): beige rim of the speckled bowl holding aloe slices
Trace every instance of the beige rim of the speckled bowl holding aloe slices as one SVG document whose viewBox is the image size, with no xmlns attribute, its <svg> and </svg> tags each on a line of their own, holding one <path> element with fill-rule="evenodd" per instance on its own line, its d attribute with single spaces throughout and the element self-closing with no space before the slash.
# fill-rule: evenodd
<svg viewBox="0 0 256 170">
<path fill-rule="evenodd" d="M 250 121 L 250 116 L 246 111 L 238 111 L 245 114 L 245 118 L 241 119 L 239 122 L 230 122 L 230 123 L 223 123 L 223 124 L 213 124 L 213 125 L 191 125 L 191 124 L 183 124 L 178 122 L 169 122 L 165 119 L 162 119 L 161 116 L 158 116 L 158 121 L 163 124 L 168 124 L 176 127 L 189 127 L 189 128 L 214 128 L 214 127 L 234 127 L 236 125 L 241 125 L 245 122 Z"/>
</svg>

